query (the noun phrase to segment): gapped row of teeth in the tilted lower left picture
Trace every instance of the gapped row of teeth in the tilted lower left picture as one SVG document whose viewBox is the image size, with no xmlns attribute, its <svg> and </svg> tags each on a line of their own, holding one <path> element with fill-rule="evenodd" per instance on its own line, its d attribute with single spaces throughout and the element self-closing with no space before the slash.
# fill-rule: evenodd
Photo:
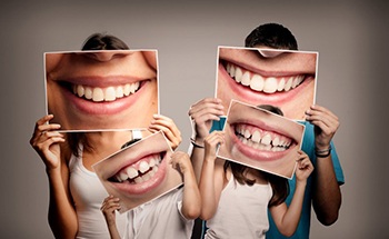
<svg viewBox="0 0 389 239">
<path fill-rule="evenodd" d="M 127 168 L 120 170 L 119 173 L 116 175 L 116 179 L 119 182 L 126 181 L 128 179 L 134 179 L 137 182 L 136 178 L 139 178 L 141 173 L 144 173 L 150 169 L 152 169 L 151 171 L 153 171 L 154 173 L 158 170 L 159 163 L 160 163 L 160 158 L 158 157 L 158 155 L 156 155 L 151 157 L 149 162 L 147 162 L 146 160 L 141 160 L 140 162 L 137 162 L 136 165 L 139 166 L 138 169 L 136 168 L 136 166 L 128 166 Z M 144 178 L 144 176 L 142 177 Z"/>
</svg>

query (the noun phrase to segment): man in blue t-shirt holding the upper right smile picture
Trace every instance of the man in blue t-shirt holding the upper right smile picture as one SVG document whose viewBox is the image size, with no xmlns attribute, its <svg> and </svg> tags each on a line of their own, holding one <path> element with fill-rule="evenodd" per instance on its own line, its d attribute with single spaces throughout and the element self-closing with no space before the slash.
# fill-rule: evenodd
<svg viewBox="0 0 389 239">
<path fill-rule="evenodd" d="M 249 48 L 298 50 L 292 33 L 277 23 L 259 26 L 245 42 Z M 221 100 L 215 98 L 206 98 L 191 106 L 189 110 L 193 122 L 191 160 L 198 179 L 203 159 L 203 139 L 212 130 L 222 130 L 226 119 L 222 116 L 226 116 L 226 110 Z M 301 123 L 306 126 L 301 148 L 312 160 L 315 171 L 307 182 L 300 222 L 291 238 L 309 238 L 311 205 L 322 225 L 329 226 L 337 221 L 341 206 L 340 186 L 345 182 L 338 155 L 331 141 L 339 127 L 337 116 L 316 104 L 307 109 L 306 121 Z M 295 192 L 295 178 L 289 181 L 290 193 L 286 201 L 288 206 Z M 269 222 L 267 238 L 286 238 L 278 231 L 270 216 Z"/>
</svg>

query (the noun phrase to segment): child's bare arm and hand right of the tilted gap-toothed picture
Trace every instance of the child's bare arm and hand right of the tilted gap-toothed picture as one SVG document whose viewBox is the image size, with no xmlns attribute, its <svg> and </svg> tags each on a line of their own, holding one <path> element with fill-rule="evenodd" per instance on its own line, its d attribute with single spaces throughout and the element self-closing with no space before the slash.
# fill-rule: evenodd
<svg viewBox="0 0 389 239">
<path fill-rule="evenodd" d="M 173 168 L 183 175 L 182 215 L 187 219 L 200 216 L 201 197 L 196 181 L 194 171 L 186 152 L 177 151 L 171 156 Z"/>
</svg>

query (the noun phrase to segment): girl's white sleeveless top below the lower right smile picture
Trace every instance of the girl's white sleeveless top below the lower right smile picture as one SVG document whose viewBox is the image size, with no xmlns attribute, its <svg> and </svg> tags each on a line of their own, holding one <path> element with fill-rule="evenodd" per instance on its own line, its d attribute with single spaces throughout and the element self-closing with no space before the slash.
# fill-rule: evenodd
<svg viewBox="0 0 389 239">
<path fill-rule="evenodd" d="M 216 215 L 207 220 L 206 238 L 265 238 L 269 230 L 270 183 L 240 185 L 233 175 L 221 191 Z"/>
</svg>

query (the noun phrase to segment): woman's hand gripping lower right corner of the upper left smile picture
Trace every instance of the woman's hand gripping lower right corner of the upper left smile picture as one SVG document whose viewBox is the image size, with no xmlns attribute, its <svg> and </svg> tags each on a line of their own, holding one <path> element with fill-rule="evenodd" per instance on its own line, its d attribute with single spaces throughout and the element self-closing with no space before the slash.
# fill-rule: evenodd
<svg viewBox="0 0 389 239">
<path fill-rule="evenodd" d="M 182 141 L 181 132 L 177 128 L 176 123 L 172 119 L 161 116 L 154 114 L 151 125 L 149 126 L 149 130 L 151 132 L 162 131 L 163 135 L 170 142 L 170 147 L 174 150 Z"/>
</svg>

